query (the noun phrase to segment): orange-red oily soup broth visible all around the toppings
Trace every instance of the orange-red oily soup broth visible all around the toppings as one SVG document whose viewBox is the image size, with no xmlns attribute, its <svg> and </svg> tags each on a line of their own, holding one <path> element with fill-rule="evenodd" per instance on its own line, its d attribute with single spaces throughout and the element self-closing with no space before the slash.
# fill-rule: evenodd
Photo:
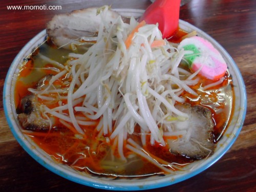
<svg viewBox="0 0 256 192">
<path fill-rule="evenodd" d="M 181 33 L 182 35 L 186 34 L 184 32 Z M 177 34 L 177 39 L 182 35 Z M 56 49 L 49 41 L 46 41 L 37 48 L 34 54 L 26 59 L 20 70 L 15 88 L 15 104 L 17 111 L 20 108 L 20 99 L 29 94 L 27 91 L 28 88 L 35 88 L 38 80 L 42 77 L 48 74 L 54 75 L 54 70 L 51 70 L 54 69 L 54 66 L 42 60 L 38 52 L 61 63 L 67 61 L 67 56 L 70 53 L 70 51 L 65 49 Z M 50 70 L 42 70 L 40 68 L 50 68 Z M 191 105 L 200 104 L 211 110 L 212 119 L 214 119 L 215 122 L 215 142 L 218 142 L 228 127 L 229 118 L 232 115 L 234 95 L 232 81 L 227 72 L 224 82 L 216 86 L 215 90 L 204 91 L 203 87 L 208 83 L 209 80 L 201 78 L 200 82 L 192 87 L 199 94 L 199 97 L 194 97 L 189 93 L 183 93 L 183 97 L 186 98 L 186 102 Z M 39 102 L 44 103 L 44 100 Z M 215 105 L 213 106 L 213 104 Z M 57 121 L 58 119 L 56 119 L 56 122 Z M 70 124 L 70 126 L 72 125 Z M 163 170 L 152 165 L 150 162 L 144 161 L 143 158 L 129 152 L 126 148 L 124 149 L 124 155 L 129 157 L 127 158 L 127 162 L 123 163 L 118 160 L 118 158 L 113 159 L 115 156 L 118 157 L 117 152 L 111 150 L 112 146 L 116 145 L 116 141 L 111 140 L 108 143 L 105 142 L 103 136 L 98 136 L 98 133 L 95 131 L 95 126 L 87 126 L 84 128 L 87 130 L 84 136 L 74 134 L 74 132 L 61 123 L 56 123 L 49 132 L 26 132 L 26 134 L 56 162 L 69 165 L 83 172 L 101 176 L 122 177 L 163 174 Z M 138 131 L 136 132 L 135 130 L 135 134 L 131 135 L 131 138 L 141 143 L 140 135 L 136 133 L 138 133 Z M 176 164 L 173 168 L 174 170 L 194 161 L 170 153 L 167 146 L 149 144 L 149 135 L 146 137 L 146 140 L 148 143 L 147 150 L 156 157 L 160 157 L 170 163 L 174 162 Z"/>
</svg>

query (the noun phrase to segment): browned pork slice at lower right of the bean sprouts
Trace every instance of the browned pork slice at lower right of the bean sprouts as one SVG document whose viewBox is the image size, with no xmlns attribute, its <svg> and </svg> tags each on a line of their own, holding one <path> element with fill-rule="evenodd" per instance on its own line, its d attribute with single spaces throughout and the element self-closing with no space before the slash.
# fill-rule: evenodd
<svg viewBox="0 0 256 192">
<path fill-rule="evenodd" d="M 203 106 L 177 105 L 177 108 L 189 115 L 188 119 L 173 123 L 175 131 L 186 131 L 177 140 L 168 140 L 170 152 L 191 159 L 203 159 L 214 153 L 216 144 L 212 131 L 214 122 L 211 111 Z"/>
</svg>

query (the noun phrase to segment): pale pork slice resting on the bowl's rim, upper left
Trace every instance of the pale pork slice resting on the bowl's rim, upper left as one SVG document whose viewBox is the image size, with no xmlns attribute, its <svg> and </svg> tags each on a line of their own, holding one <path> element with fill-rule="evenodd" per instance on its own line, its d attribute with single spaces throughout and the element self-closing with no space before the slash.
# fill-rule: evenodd
<svg viewBox="0 0 256 192">
<path fill-rule="evenodd" d="M 100 9 L 105 11 L 104 21 L 107 25 L 112 24 L 119 16 L 108 8 L 87 8 L 57 14 L 47 24 L 47 34 L 57 47 L 73 49 L 71 43 L 79 45 L 81 37 L 97 36 L 102 23 L 101 16 L 97 14 Z"/>
</svg>

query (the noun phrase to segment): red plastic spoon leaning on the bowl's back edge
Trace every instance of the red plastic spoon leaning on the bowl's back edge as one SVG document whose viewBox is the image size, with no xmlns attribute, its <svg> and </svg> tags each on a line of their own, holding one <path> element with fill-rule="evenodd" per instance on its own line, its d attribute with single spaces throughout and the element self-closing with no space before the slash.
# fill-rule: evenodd
<svg viewBox="0 0 256 192">
<path fill-rule="evenodd" d="M 145 20 L 147 24 L 158 23 L 163 38 L 171 37 L 179 27 L 180 1 L 156 0 L 146 9 L 139 21 Z"/>
</svg>

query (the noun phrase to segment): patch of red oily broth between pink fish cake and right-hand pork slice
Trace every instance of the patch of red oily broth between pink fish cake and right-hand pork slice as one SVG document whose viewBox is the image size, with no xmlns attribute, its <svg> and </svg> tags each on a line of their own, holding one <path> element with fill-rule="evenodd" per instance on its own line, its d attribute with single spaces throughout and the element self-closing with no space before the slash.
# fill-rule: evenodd
<svg viewBox="0 0 256 192">
<path fill-rule="evenodd" d="M 185 92 L 182 96 L 186 98 L 185 102 L 191 105 L 205 106 L 211 111 L 215 123 L 214 142 L 217 143 L 225 133 L 233 115 L 233 84 L 228 71 L 225 74 L 225 80 L 220 85 L 209 90 L 203 90 L 203 87 L 209 83 L 209 79 L 202 77 L 198 84 L 191 86 L 199 97 L 194 97 Z"/>
</svg>

